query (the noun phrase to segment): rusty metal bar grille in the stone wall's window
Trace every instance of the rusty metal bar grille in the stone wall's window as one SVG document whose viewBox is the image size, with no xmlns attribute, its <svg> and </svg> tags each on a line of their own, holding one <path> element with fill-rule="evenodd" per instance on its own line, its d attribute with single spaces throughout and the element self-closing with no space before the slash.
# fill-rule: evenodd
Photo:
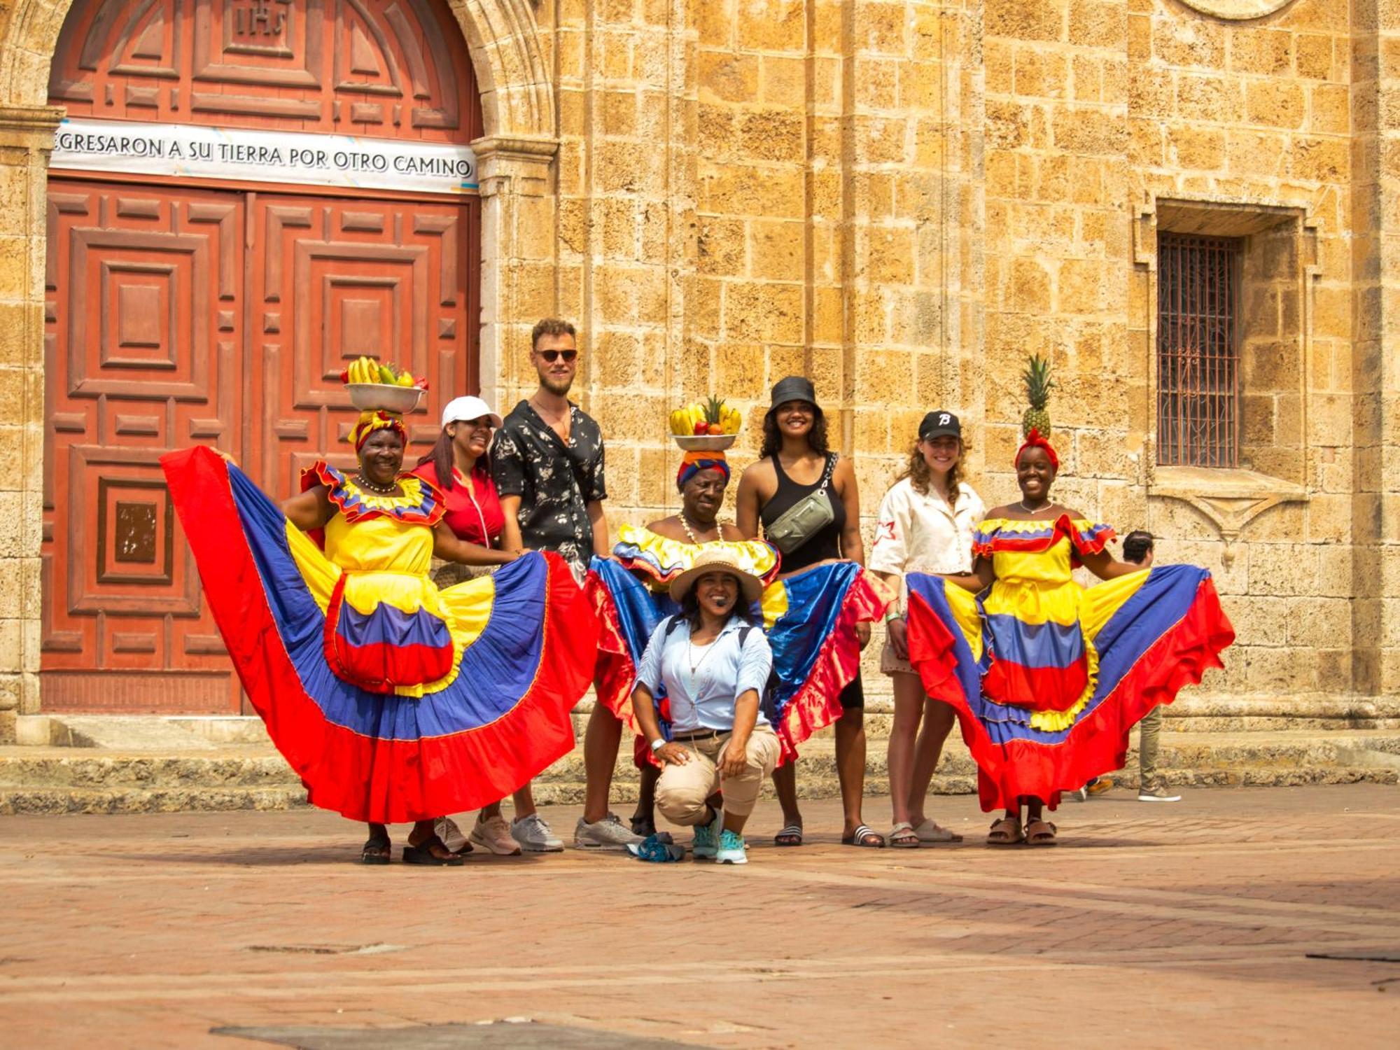
<svg viewBox="0 0 1400 1050">
<path fill-rule="evenodd" d="M 1233 237 L 1158 234 L 1156 452 L 1175 466 L 1239 463 L 1239 267 Z"/>
</svg>

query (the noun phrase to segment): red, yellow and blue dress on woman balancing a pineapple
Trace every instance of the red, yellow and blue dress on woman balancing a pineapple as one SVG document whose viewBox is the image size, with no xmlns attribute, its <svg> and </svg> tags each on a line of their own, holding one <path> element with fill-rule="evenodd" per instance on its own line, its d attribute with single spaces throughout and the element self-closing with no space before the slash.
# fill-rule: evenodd
<svg viewBox="0 0 1400 1050">
<path fill-rule="evenodd" d="M 986 812 L 1121 769 L 1128 729 L 1221 666 L 1235 640 L 1211 574 L 1159 566 L 1084 588 L 1071 573 L 1103 552 L 1107 525 L 988 518 L 973 554 L 980 595 L 910 574 L 909 652 L 924 687 L 958 713 Z"/>
</svg>

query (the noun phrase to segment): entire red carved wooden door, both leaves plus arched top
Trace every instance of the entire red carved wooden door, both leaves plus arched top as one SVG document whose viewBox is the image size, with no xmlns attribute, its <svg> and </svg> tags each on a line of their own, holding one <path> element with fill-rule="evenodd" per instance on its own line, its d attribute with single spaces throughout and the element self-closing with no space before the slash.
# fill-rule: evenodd
<svg viewBox="0 0 1400 1050">
<path fill-rule="evenodd" d="M 49 101 L 112 127 L 482 134 L 445 0 L 74 0 Z M 316 456 L 350 462 L 346 361 L 428 377 L 417 448 L 444 399 L 475 389 L 475 197 L 189 185 L 50 176 L 46 710 L 238 710 L 162 452 L 217 444 L 281 497 Z"/>
</svg>

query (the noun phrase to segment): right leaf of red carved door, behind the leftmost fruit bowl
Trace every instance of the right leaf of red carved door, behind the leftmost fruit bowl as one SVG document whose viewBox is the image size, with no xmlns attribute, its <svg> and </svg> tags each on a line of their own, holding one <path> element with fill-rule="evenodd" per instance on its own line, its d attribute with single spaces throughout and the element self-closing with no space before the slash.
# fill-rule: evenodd
<svg viewBox="0 0 1400 1050">
<path fill-rule="evenodd" d="M 361 354 L 426 375 L 430 393 L 409 417 L 410 455 L 437 438 L 447 399 L 475 371 L 476 242 L 469 203 L 339 202 L 256 195 L 249 272 L 252 403 L 248 462 L 279 497 L 326 456 L 354 465 L 346 438 L 356 412 L 340 384 Z M 473 323 L 468 323 L 468 319 Z"/>
</svg>

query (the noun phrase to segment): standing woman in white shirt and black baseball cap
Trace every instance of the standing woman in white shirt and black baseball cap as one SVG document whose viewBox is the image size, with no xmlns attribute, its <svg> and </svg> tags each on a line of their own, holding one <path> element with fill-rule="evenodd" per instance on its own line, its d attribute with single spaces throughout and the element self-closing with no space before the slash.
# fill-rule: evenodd
<svg viewBox="0 0 1400 1050">
<path fill-rule="evenodd" d="M 895 725 L 889 734 L 889 795 L 895 811 L 890 846 L 962 841 L 962 836 L 924 815 L 928 784 L 953 727 L 953 708 L 927 697 L 918 672 L 909 664 L 903 580 L 906 573 L 972 570 L 972 533 L 987 508 L 962 480 L 965 452 L 955 414 L 924 416 L 909 469 L 881 503 L 871 547 L 869 570 L 902 591 L 899 608 L 892 606 L 886 613 L 888 638 L 881 654 L 881 671 L 895 680 Z"/>
</svg>

